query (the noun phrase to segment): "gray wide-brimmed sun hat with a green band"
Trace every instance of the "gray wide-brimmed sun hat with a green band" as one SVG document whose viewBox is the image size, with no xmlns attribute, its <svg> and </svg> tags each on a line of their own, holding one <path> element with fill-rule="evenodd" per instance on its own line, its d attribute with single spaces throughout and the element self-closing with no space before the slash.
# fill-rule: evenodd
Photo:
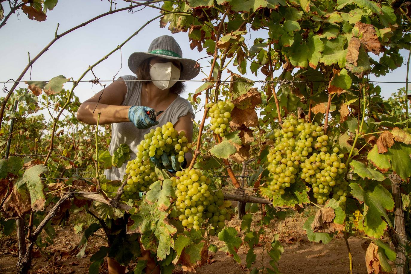
<svg viewBox="0 0 411 274">
<path fill-rule="evenodd" d="M 169 35 L 163 35 L 154 39 L 147 52 L 135 52 L 130 55 L 128 65 L 134 73 L 137 67 L 144 60 L 150 57 L 161 57 L 170 60 L 178 60 L 182 64 L 180 80 L 190 80 L 196 77 L 200 72 L 200 67 L 197 67 L 197 62 L 192 59 L 182 58 L 182 51 L 177 41 Z"/>
</svg>

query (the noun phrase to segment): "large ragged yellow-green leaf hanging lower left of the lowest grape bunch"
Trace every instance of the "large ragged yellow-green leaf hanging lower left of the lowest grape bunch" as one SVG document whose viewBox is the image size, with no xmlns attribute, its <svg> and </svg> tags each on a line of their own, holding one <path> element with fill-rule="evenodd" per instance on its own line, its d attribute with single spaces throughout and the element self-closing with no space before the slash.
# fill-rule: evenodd
<svg viewBox="0 0 411 274">
<path fill-rule="evenodd" d="M 130 216 L 134 223 L 127 228 L 127 233 L 140 233 L 144 249 L 157 253 L 158 260 L 165 259 L 170 248 L 174 247 L 172 236 L 177 229 L 169 224 L 168 213 L 158 210 L 156 203 L 150 205 L 142 199 L 137 206 L 136 214 Z"/>
</svg>

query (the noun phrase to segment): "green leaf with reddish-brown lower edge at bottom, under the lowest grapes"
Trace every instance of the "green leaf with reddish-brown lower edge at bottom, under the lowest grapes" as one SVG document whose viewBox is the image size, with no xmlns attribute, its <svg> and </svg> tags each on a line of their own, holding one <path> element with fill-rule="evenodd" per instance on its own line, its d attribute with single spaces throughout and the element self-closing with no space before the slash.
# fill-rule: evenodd
<svg viewBox="0 0 411 274">
<path fill-rule="evenodd" d="M 175 240 L 174 250 L 177 256 L 174 262 L 181 263 L 185 271 L 194 271 L 197 266 L 201 265 L 204 247 L 207 251 L 207 245 L 203 241 L 200 230 L 184 231 L 184 234 L 178 235 Z"/>
</svg>

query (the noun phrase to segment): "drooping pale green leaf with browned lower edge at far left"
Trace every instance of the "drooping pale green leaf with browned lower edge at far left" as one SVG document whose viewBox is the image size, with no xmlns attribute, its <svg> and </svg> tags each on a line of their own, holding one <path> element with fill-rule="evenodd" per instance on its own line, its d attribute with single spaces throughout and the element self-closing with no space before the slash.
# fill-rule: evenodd
<svg viewBox="0 0 411 274">
<path fill-rule="evenodd" d="M 23 177 L 16 183 L 17 188 L 27 186 L 30 192 L 31 207 L 33 210 L 42 210 L 46 202 L 44 196 L 44 185 L 40 174 L 47 173 L 48 169 L 43 165 L 32 166 L 25 170 Z"/>
</svg>

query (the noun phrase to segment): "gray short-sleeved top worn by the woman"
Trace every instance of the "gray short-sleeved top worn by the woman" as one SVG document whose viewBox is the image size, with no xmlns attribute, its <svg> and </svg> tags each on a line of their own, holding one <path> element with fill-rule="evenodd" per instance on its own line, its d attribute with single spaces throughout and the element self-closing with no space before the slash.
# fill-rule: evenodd
<svg viewBox="0 0 411 274">
<path fill-rule="evenodd" d="M 121 76 L 125 80 L 127 85 L 127 93 L 122 101 L 121 106 L 141 106 L 141 82 L 127 82 L 127 80 L 137 80 L 136 76 L 125 75 Z M 160 110 L 155 110 L 160 111 Z M 122 122 L 111 124 L 111 143 L 109 146 L 109 152 L 113 155 L 114 151 L 121 144 L 127 144 L 131 150 L 131 159 L 136 158 L 137 145 L 143 140 L 144 134 L 148 133 L 150 129 L 155 129 L 156 127 L 161 127 L 167 122 L 172 122 L 175 124 L 178 118 L 191 113 L 193 118 L 194 112 L 191 104 L 186 99 L 180 97 L 180 95 L 175 98 L 175 100 L 170 104 L 168 108 L 164 110 L 164 113 L 157 119 L 159 124 L 157 126 L 151 127 L 149 129 L 137 129 L 132 122 Z M 104 175 L 106 175 L 109 180 L 122 180 L 125 174 L 125 166 L 127 161 L 120 167 L 111 169 L 106 169 Z"/>
</svg>

